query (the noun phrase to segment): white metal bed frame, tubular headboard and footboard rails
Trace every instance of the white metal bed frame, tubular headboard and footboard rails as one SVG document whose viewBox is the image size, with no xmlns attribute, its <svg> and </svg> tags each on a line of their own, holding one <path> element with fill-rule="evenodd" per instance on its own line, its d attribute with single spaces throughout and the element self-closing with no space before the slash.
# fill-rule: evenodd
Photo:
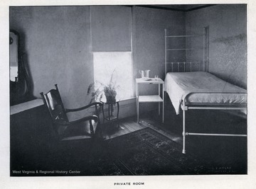
<svg viewBox="0 0 256 189">
<path fill-rule="evenodd" d="M 166 39 L 170 37 L 166 35 L 165 30 L 165 47 Z M 167 57 L 165 55 L 165 57 Z M 165 59 L 166 60 L 166 59 Z M 178 65 L 178 72 L 180 72 L 180 64 L 183 64 L 183 72 L 192 71 L 192 64 L 197 64 L 197 69 L 199 68 L 200 62 L 167 62 L 165 61 L 165 75 L 167 74 L 167 65 L 171 64 L 171 72 L 174 72 L 174 64 Z M 186 64 L 189 64 L 190 68 L 187 70 Z M 198 69 L 199 71 L 199 69 Z M 203 37 L 203 71 L 208 71 L 208 28 L 204 28 L 204 37 Z M 170 72 L 170 71 L 169 71 Z M 186 132 L 186 111 L 187 110 L 247 110 L 247 103 L 191 103 L 188 101 L 188 97 L 195 93 L 239 93 L 234 91 L 225 91 L 225 92 L 198 92 L 191 91 L 190 93 L 183 96 L 181 102 L 181 109 L 183 110 L 183 149 L 182 153 L 186 154 L 186 136 L 188 135 L 200 135 L 200 136 L 225 136 L 225 137 L 247 137 L 247 134 L 217 134 L 217 133 L 198 133 L 198 132 Z M 242 93 L 242 92 L 241 92 Z M 247 93 L 244 93 L 247 94 Z M 166 94 L 165 94 L 166 95 Z M 166 99 L 166 98 L 165 98 Z"/>
</svg>

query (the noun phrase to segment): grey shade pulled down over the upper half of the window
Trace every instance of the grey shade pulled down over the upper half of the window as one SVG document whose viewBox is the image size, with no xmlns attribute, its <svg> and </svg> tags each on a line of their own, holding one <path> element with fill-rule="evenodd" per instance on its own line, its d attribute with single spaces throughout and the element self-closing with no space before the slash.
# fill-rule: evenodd
<svg viewBox="0 0 256 189">
<path fill-rule="evenodd" d="M 93 52 L 132 51 L 132 8 L 90 7 Z"/>
</svg>

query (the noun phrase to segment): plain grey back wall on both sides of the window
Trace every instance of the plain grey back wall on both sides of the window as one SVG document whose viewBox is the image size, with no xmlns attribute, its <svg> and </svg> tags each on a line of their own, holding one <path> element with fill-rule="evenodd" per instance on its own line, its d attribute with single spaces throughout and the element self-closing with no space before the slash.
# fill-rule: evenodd
<svg viewBox="0 0 256 189">
<path fill-rule="evenodd" d="M 95 17 L 99 15 L 97 11 L 101 19 Z M 111 33 L 109 40 L 102 41 L 102 45 L 127 50 L 131 48 L 127 44 L 130 42 L 129 31 L 132 31 L 134 79 L 139 77 L 139 69 L 151 69 L 150 76 L 158 74 L 164 79 L 164 28 L 183 32 L 184 13 L 141 7 L 135 7 L 133 14 L 130 14 L 131 11 L 132 7 L 108 6 L 100 10 L 94 8 L 90 15 L 89 6 L 11 7 L 10 29 L 21 34 L 21 47 L 26 52 L 25 64 L 28 64 L 31 73 L 33 96 L 40 97 L 41 91 L 47 92 L 54 84 L 58 84 L 65 107 L 75 108 L 90 101 L 90 96 L 86 94 L 87 86 L 94 78 L 94 35 L 91 25 L 99 26 L 98 21 L 103 17 L 108 24 L 112 21 L 110 17 L 118 17 L 114 20 L 119 23 L 114 28 L 118 32 L 122 32 L 126 23 L 132 21 L 132 28 L 127 29 L 128 34 L 127 30 L 123 33 L 128 36 L 128 40 L 124 40 L 126 45 L 120 39 L 115 41 L 118 43 L 116 46 L 109 44 L 113 37 Z M 108 36 L 106 31 L 105 34 L 105 37 Z M 157 89 L 152 91 L 151 88 L 142 88 L 142 93 L 148 91 L 154 93 Z M 129 111 L 135 114 L 134 101 Z"/>
</svg>

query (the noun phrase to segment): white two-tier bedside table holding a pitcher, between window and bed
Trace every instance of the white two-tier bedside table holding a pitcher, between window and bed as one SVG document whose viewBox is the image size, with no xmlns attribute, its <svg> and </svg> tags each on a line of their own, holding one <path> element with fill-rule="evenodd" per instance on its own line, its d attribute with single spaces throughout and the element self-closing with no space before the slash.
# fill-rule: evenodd
<svg viewBox="0 0 256 189">
<path fill-rule="evenodd" d="M 147 85 L 159 85 L 159 93 L 158 95 L 149 95 L 149 96 L 139 96 L 139 84 L 147 84 Z M 160 86 L 162 85 L 162 98 L 160 96 L 161 90 Z M 159 115 L 160 115 L 160 103 L 163 103 L 163 118 L 162 122 L 164 122 L 164 81 L 160 78 L 154 79 L 136 79 L 136 109 L 137 109 L 137 122 L 139 122 L 139 103 L 159 103 Z"/>
</svg>

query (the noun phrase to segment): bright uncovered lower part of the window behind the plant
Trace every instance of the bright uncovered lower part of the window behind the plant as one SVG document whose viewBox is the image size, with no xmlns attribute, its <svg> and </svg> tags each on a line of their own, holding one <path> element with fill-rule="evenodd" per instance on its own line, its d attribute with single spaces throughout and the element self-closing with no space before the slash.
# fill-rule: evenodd
<svg viewBox="0 0 256 189">
<path fill-rule="evenodd" d="M 117 81 L 117 100 L 132 98 L 132 52 L 93 52 L 95 81 L 107 84 L 113 74 Z M 114 71 L 114 72 L 113 72 Z"/>
</svg>

